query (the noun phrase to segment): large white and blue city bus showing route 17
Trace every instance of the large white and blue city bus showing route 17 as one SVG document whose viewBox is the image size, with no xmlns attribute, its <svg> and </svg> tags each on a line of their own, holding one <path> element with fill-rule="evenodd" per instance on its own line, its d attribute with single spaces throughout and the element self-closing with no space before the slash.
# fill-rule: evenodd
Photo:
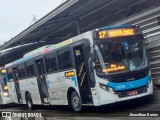
<svg viewBox="0 0 160 120">
<path fill-rule="evenodd" d="M 31 51 L 6 66 L 14 102 L 39 105 L 101 106 L 148 96 L 153 84 L 144 38 L 138 26 L 88 31 Z M 17 99 L 15 99 L 17 98 Z"/>
</svg>

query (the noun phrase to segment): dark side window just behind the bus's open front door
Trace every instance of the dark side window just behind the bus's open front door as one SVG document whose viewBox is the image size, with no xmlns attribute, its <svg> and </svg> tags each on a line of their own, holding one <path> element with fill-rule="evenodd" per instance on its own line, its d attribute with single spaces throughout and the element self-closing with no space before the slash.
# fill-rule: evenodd
<svg viewBox="0 0 160 120">
<path fill-rule="evenodd" d="M 59 69 L 68 69 L 72 67 L 71 51 L 58 51 Z"/>
</svg>

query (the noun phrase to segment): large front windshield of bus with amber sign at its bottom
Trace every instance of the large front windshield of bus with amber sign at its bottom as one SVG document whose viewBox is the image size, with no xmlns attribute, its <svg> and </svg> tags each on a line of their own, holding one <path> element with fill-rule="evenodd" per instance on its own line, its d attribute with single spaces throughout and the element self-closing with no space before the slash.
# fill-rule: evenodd
<svg viewBox="0 0 160 120">
<path fill-rule="evenodd" d="M 116 37 L 97 43 L 97 72 L 117 74 L 141 69 L 145 64 L 144 40 L 140 36 Z M 99 57 L 101 56 L 101 57 Z M 99 60 L 99 59 L 102 60 Z M 102 65 L 103 64 L 103 65 Z M 103 67 L 102 67 L 103 66 Z"/>
</svg>

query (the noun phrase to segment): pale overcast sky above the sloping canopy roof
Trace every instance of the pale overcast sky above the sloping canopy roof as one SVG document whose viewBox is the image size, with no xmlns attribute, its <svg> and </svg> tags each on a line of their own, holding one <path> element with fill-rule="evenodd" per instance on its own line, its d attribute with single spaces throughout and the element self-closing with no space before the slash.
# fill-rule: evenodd
<svg viewBox="0 0 160 120">
<path fill-rule="evenodd" d="M 9 41 L 65 0 L 0 0 L 0 44 Z"/>
</svg>

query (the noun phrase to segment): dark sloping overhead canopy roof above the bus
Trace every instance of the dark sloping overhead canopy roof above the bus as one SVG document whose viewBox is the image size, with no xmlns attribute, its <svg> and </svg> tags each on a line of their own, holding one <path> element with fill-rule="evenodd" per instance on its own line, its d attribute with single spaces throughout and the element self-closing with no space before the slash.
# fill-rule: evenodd
<svg viewBox="0 0 160 120">
<path fill-rule="evenodd" d="M 0 54 L 0 65 L 42 45 L 59 43 L 159 5 L 158 0 L 68 0 L 3 44 L 0 50 L 35 43 Z"/>
</svg>

